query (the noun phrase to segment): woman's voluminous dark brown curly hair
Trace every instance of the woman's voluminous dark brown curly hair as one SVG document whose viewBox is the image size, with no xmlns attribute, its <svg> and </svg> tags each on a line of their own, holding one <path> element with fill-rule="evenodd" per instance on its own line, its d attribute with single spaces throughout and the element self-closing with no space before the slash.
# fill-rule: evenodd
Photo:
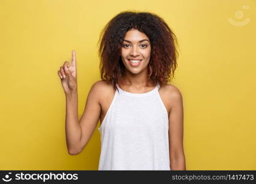
<svg viewBox="0 0 256 184">
<path fill-rule="evenodd" d="M 163 18 L 155 13 L 135 11 L 118 13 L 101 31 L 98 41 L 101 80 L 111 82 L 114 90 L 118 90 L 118 79 L 126 71 L 121 58 L 122 43 L 126 32 L 132 28 L 150 39 L 152 50 L 147 67 L 148 81 L 160 86 L 170 82 L 177 67 L 177 38 Z"/>
</svg>

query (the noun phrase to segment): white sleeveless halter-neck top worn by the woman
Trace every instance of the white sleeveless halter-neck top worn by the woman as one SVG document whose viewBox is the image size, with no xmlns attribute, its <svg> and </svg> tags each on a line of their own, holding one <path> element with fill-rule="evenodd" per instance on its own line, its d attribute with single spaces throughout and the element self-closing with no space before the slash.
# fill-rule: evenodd
<svg viewBox="0 0 256 184">
<path fill-rule="evenodd" d="M 98 128 L 98 170 L 171 170 L 168 112 L 157 85 L 147 93 L 115 91 Z"/>
</svg>

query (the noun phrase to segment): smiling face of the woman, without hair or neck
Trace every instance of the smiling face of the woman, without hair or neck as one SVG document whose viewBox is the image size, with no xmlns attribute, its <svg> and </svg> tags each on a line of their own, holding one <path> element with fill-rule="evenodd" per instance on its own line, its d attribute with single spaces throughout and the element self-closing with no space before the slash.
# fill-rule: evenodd
<svg viewBox="0 0 256 184">
<path fill-rule="evenodd" d="M 131 29 L 125 34 L 122 44 L 122 61 L 126 69 L 138 74 L 147 69 L 150 60 L 151 45 L 147 35 L 137 29 Z"/>
</svg>

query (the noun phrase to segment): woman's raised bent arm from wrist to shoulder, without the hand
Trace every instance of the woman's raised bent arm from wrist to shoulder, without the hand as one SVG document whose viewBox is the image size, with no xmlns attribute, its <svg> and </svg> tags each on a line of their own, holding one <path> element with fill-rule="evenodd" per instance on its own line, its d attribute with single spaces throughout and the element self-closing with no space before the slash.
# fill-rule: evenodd
<svg viewBox="0 0 256 184">
<path fill-rule="evenodd" d="M 66 143 L 70 155 L 79 154 L 95 131 L 101 113 L 99 88 L 100 82 L 91 86 L 80 121 L 77 115 L 77 91 L 66 95 Z"/>
</svg>

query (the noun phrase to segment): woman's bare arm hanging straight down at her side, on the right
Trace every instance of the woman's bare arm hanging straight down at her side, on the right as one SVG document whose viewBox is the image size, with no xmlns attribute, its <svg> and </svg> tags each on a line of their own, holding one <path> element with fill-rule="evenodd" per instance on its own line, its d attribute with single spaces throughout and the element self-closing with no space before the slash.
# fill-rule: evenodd
<svg viewBox="0 0 256 184">
<path fill-rule="evenodd" d="M 186 170 L 183 148 L 183 101 L 182 94 L 174 86 L 169 93 L 169 158 L 171 170 Z"/>
</svg>

